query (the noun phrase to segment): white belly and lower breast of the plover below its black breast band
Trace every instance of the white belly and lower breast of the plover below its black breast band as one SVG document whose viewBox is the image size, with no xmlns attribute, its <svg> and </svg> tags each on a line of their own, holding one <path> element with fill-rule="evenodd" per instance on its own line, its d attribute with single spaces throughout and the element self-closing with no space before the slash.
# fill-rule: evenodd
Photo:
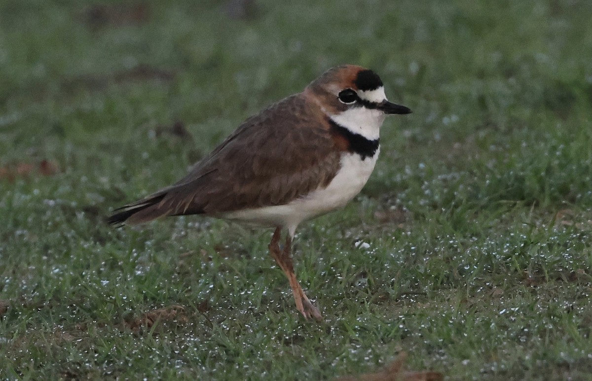
<svg viewBox="0 0 592 381">
<path fill-rule="evenodd" d="M 366 157 L 365 160 L 358 154 L 343 154 L 341 168 L 327 188 L 313 190 L 308 195 L 285 205 L 243 209 L 222 217 L 269 227 L 286 227 L 293 236 L 300 222 L 342 208 L 357 195 L 374 170 L 379 152 L 380 148 L 373 157 Z"/>
</svg>

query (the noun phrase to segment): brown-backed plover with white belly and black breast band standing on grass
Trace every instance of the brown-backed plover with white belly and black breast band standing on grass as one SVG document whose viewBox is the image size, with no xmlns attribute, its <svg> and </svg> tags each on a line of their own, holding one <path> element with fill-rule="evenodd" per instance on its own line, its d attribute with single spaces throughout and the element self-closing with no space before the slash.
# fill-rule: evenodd
<svg viewBox="0 0 592 381">
<path fill-rule="evenodd" d="M 322 321 L 292 261 L 301 222 L 345 206 L 365 185 L 389 114 L 410 114 L 387 100 L 373 70 L 346 64 L 247 118 L 173 185 L 115 209 L 107 221 L 140 224 L 207 215 L 275 228 L 269 253 L 288 277 L 297 310 Z M 282 232 L 285 231 L 283 246 Z"/>
</svg>

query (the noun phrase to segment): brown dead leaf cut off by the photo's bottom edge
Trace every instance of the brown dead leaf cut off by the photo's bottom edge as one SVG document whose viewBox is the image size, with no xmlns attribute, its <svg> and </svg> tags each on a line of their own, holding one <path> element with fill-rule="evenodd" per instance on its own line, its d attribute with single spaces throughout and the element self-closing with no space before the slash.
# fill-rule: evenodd
<svg viewBox="0 0 592 381">
<path fill-rule="evenodd" d="M 406 353 L 401 353 L 388 366 L 377 373 L 358 374 L 358 376 L 343 376 L 336 381 L 441 381 L 444 379 L 439 372 L 416 372 L 404 370 L 404 363 L 407 359 Z"/>
</svg>

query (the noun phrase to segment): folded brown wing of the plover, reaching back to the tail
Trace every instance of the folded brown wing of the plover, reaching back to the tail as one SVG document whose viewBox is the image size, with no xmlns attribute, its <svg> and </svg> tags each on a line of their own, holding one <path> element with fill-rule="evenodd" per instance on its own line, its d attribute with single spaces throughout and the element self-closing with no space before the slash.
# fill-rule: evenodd
<svg viewBox="0 0 592 381">
<path fill-rule="evenodd" d="M 302 95 L 272 105 L 244 121 L 175 185 L 124 206 L 110 222 L 282 205 L 327 185 L 340 154 L 322 113 L 314 110 Z"/>
</svg>

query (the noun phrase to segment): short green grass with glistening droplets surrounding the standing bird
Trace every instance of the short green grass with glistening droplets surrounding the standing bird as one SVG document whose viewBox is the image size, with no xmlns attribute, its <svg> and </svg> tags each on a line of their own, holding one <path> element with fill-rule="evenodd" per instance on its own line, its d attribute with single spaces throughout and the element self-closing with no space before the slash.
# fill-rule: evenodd
<svg viewBox="0 0 592 381">
<path fill-rule="evenodd" d="M 332 379 L 401 351 L 451 380 L 592 377 L 587 2 L 139 4 L 0 3 L 2 379 Z M 342 63 L 414 113 L 361 195 L 298 230 L 325 322 L 295 311 L 270 230 L 103 222 Z"/>
</svg>

